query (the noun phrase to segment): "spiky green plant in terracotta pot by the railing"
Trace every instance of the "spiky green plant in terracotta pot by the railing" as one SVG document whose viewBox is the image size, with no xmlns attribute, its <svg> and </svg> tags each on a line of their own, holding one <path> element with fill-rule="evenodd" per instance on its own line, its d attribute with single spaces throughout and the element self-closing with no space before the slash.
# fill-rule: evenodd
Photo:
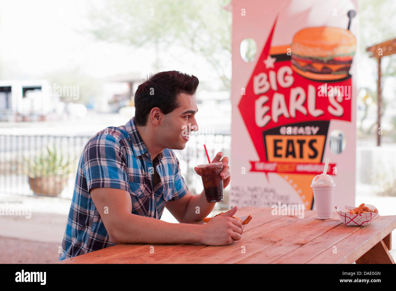
<svg viewBox="0 0 396 291">
<path fill-rule="evenodd" d="M 29 177 L 30 189 L 38 196 L 58 196 L 67 184 L 73 162 L 70 157 L 65 161 L 63 152 L 57 152 L 56 146 L 36 154 L 34 159 L 23 157 L 24 173 Z"/>
</svg>

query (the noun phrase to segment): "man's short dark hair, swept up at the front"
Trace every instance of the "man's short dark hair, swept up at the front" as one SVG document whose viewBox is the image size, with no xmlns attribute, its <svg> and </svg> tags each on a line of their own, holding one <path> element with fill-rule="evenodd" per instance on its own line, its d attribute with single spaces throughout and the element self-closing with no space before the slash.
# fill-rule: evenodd
<svg viewBox="0 0 396 291">
<path fill-rule="evenodd" d="M 177 95 L 194 95 L 198 87 L 198 78 L 177 71 L 159 72 L 137 87 L 135 93 L 135 124 L 146 126 L 147 115 L 158 107 L 164 114 L 180 107 Z"/>
</svg>

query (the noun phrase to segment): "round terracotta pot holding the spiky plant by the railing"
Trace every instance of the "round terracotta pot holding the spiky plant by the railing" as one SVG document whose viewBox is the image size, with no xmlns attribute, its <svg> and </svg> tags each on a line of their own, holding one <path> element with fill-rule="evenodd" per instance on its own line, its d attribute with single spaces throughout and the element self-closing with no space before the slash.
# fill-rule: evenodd
<svg viewBox="0 0 396 291">
<path fill-rule="evenodd" d="M 38 196 L 58 196 L 67 184 L 67 177 L 29 177 L 30 189 Z"/>
</svg>

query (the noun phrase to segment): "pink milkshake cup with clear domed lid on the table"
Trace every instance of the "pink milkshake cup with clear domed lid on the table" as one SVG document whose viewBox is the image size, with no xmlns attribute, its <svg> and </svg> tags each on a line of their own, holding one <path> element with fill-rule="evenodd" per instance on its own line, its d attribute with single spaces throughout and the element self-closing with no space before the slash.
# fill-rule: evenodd
<svg viewBox="0 0 396 291">
<path fill-rule="evenodd" d="M 333 190 L 335 183 L 327 174 L 316 175 L 312 180 L 316 217 L 318 219 L 333 218 Z"/>
</svg>

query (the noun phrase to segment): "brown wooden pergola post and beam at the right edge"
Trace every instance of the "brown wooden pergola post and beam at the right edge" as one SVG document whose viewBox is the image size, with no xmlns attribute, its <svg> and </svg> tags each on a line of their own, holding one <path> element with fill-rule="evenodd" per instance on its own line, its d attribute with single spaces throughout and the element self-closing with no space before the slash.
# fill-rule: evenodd
<svg viewBox="0 0 396 291">
<path fill-rule="evenodd" d="M 378 127 L 381 127 L 382 115 L 382 91 L 381 91 L 381 59 L 387 55 L 396 53 L 396 38 L 375 44 L 366 49 L 373 53 L 370 57 L 375 57 L 378 60 L 378 81 L 377 81 L 377 96 L 378 96 Z M 381 135 L 377 134 L 377 146 L 381 145 Z"/>
</svg>

